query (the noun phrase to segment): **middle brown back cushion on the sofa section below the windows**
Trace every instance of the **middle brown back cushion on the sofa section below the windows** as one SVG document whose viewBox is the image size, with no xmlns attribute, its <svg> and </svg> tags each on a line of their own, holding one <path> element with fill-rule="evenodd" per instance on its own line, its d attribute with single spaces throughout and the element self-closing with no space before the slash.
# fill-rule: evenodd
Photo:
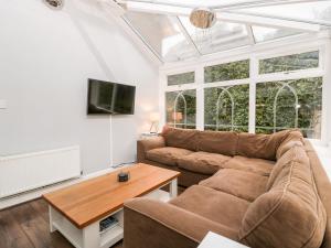
<svg viewBox="0 0 331 248">
<path fill-rule="evenodd" d="M 224 155 L 235 155 L 238 142 L 236 132 L 199 132 L 199 151 L 221 153 Z"/>
</svg>

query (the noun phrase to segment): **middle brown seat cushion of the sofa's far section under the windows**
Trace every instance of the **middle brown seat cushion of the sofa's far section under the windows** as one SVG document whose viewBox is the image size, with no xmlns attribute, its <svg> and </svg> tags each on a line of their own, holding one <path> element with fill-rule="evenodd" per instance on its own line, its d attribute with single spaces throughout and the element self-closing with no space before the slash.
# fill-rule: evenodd
<svg viewBox="0 0 331 248">
<path fill-rule="evenodd" d="M 217 172 L 231 157 L 210 152 L 194 152 L 178 160 L 178 166 L 206 175 Z"/>
</svg>

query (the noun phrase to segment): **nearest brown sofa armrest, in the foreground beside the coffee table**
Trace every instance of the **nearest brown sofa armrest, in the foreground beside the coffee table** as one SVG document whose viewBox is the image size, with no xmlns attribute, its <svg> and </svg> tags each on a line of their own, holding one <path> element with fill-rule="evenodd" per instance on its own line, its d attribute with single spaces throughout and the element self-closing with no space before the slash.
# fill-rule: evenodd
<svg viewBox="0 0 331 248">
<path fill-rule="evenodd" d="M 125 203 L 125 248 L 196 248 L 210 231 L 237 240 L 237 231 L 174 205 L 148 198 Z"/>
</svg>

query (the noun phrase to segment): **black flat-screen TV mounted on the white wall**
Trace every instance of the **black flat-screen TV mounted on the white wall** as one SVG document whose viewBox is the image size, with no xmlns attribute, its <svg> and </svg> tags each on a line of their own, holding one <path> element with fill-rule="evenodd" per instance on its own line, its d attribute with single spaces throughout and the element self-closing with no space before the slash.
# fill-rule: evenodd
<svg viewBox="0 0 331 248">
<path fill-rule="evenodd" d="M 88 79 L 87 114 L 134 115 L 136 87 Z"/>
</svg>

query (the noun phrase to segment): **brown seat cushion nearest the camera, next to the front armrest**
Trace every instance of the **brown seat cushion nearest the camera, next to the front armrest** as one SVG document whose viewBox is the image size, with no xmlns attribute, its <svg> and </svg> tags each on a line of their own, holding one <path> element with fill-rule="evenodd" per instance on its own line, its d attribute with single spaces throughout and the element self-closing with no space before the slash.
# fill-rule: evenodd
<svg viewBox="0 0 331 248">
<path fill-rule="evenodd" d="M 170 204 L 238 230 L 249 203 L 210 187 L 193 185 Z"/>
</svg>

